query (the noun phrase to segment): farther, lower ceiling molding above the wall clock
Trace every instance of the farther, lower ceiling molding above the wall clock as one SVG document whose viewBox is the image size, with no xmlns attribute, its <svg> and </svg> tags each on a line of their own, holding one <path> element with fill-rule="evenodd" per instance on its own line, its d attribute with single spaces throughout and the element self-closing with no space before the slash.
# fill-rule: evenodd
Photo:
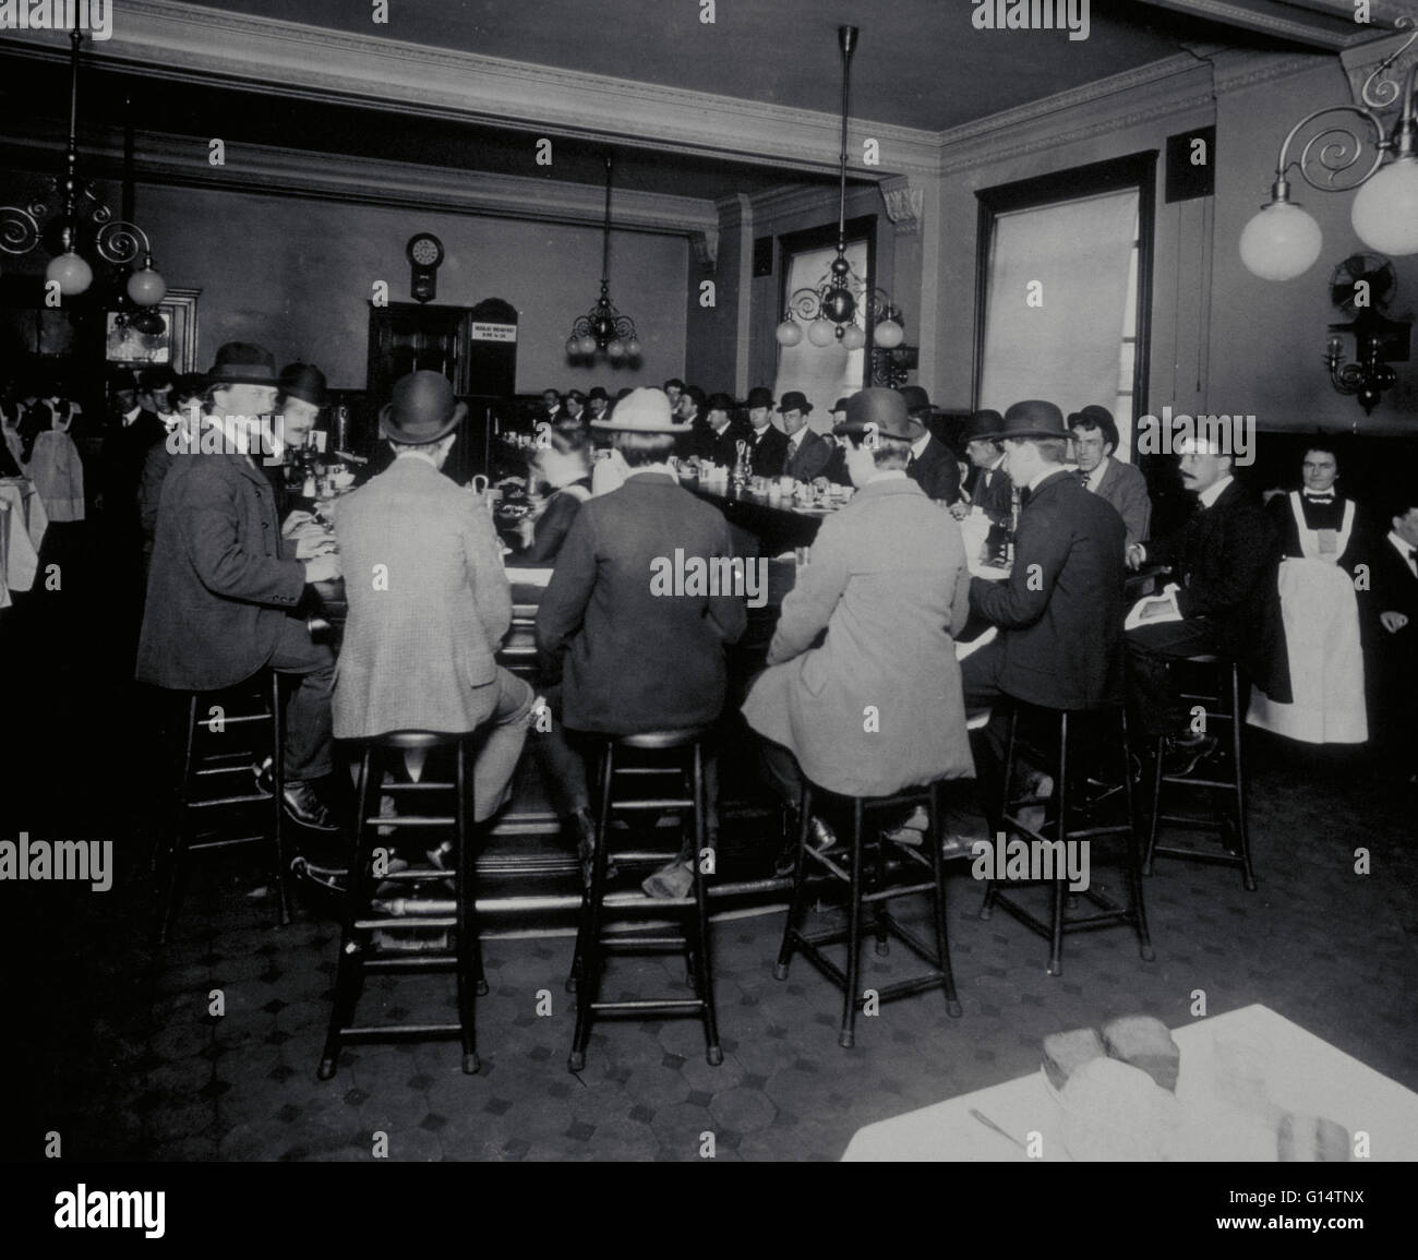
<svg viewBox="0 0 1418 1260">
<path fill-rule="evenodd" d="M 31 135 L 0 143 L 0 163 L 10 169 L 52 175 L 58 170 L 64 136 Z M 204 142 L 190 136 L 142 132 L 135 138 L 139 159 L 135 176 L 147 184 L 224 189 L 238 193 L 319 197 L 369 206 L 444 210 L 537 223 L 600 227 L 605 190 L 486 172 L 457 172 L 373 158 L 315 155 L 301 149 L 241 145 L 228 152 L 227 166 L 211 166 Z M 122 143 L 111 138 L 81 146 L 81 172 L 88 177 L 118 179 Z M 700 197 L 620 190 L 614 227 L 618 231 L 651 231 L 689 236 L 718 244 L 715 203 Z"/>
</svg>

